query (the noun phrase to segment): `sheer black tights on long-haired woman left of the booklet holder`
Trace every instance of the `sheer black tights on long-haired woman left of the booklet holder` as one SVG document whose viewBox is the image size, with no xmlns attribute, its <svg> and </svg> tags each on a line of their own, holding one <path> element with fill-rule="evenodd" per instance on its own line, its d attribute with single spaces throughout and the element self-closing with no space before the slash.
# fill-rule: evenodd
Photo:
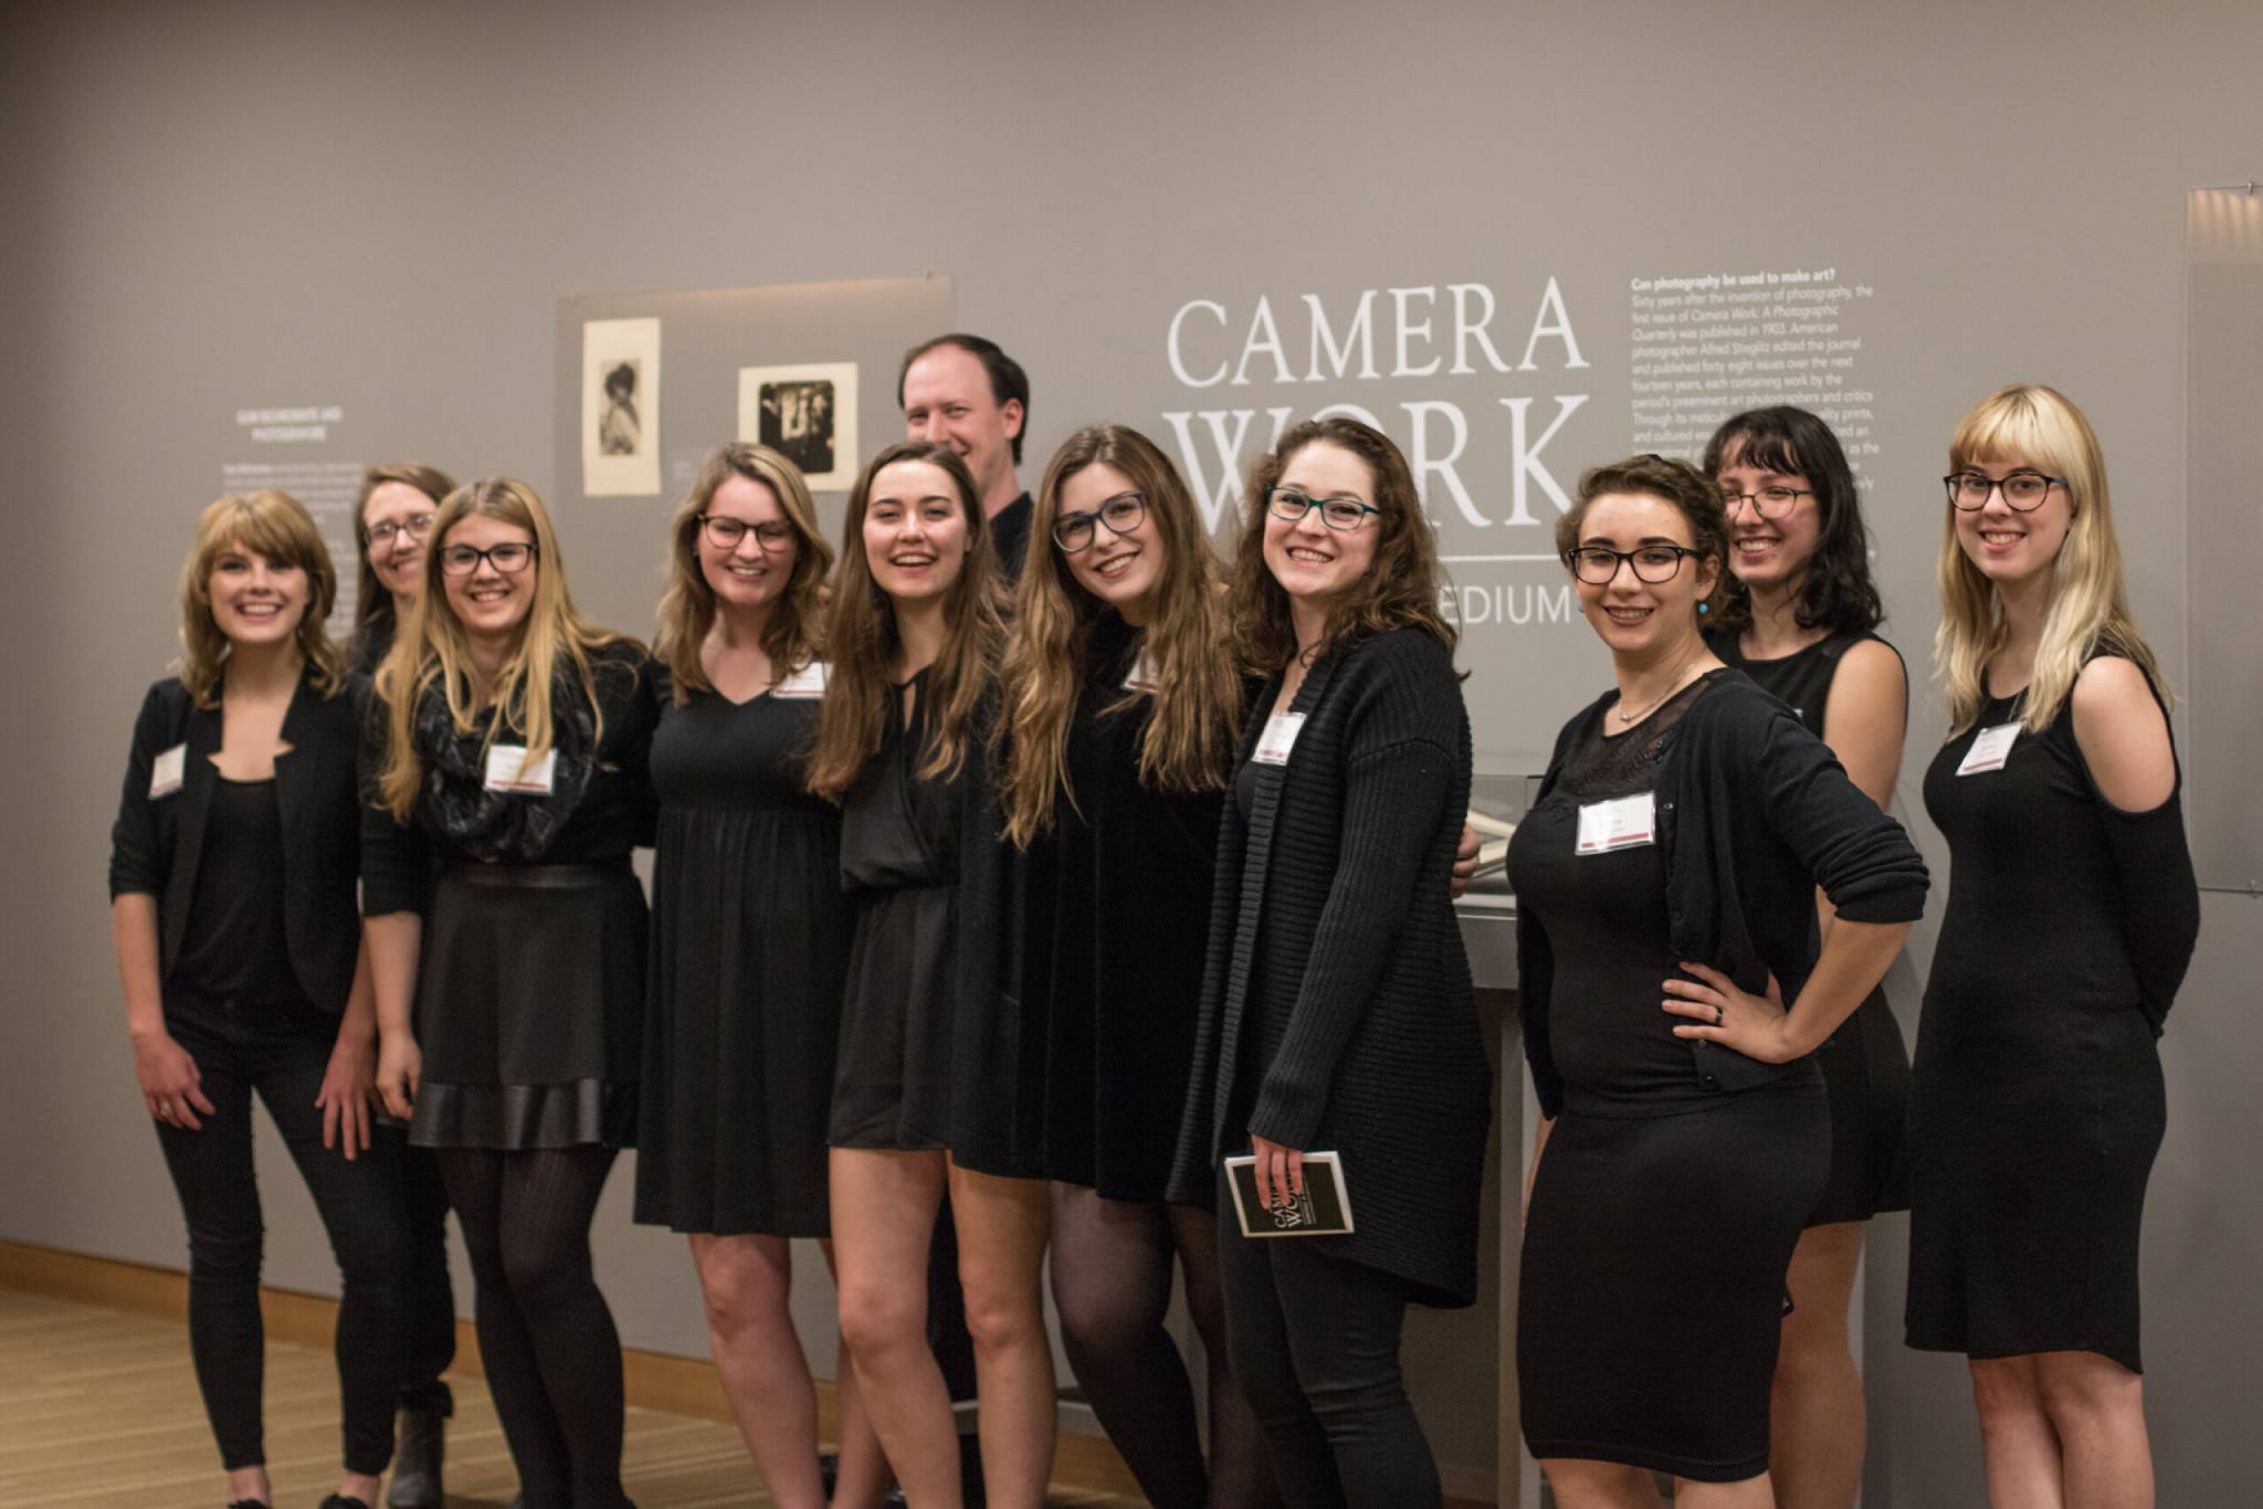
<svg viewBox="0 0 2263 1509">
<path fill-rule="evenodd" d="M 1170 1269 L 1211 1364 L 1211 1464 L 1202 1464 L 1195 1391 L 1163 1330 Z M 1265 1437 L 1227 1366 L 1217 1222 L 1190 1206 L 1102 1199 L 1052 1185 L 1052 1301 L 1061 1344 L 1093 1414 L 1159 1509 L 1256 1509 L 1279 1502 Z"/>
</svg>

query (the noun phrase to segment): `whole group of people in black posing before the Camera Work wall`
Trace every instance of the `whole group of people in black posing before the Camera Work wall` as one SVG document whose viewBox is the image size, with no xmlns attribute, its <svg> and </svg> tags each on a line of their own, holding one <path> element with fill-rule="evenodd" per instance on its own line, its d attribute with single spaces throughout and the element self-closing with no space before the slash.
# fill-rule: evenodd
<svg viewBox="0 0 2263 1509">
<path fill-rule="evenodd" d="M 306 509 L 206 509 L 111 894 L 233 1509 L 269 1502 L 253 1093 L 339 1260 L 326 1509 L 376 1504 L 396 1412 L 389 1502 L 439 1502 L 448 1208 L 523 1504 L 627 1502 L 588 1233 L 631 1145 L 788 1509 L 962 1502 L 946 1210 L 998 1509 L 1052 1461 L 1048 1251 L 1152 1502 L 1439 1500 L 1399 1339 L 1408 1303 L 1475 1296 L 1491 1070 L 1453 916 L 1457 636 L 1408 462 L 1351 419 L 1288 428 L 1220 559 L 1125 425 L 1023 493 L 996 344 L 917 346 L 898 398 L 837 541 L 788 457 L 708 457 L 649 649 L 579 615 L 520 482 L 371 468 L 346 649 Z M 1543 1109 L 1518 1396 L 1566 1509 L 1654 1504 L 1652 1473 L 1690 1509 L 1851 1504 L 1849 1294 L 1862 1222 L 1903 1206 L 1910 1344 L 1971 1357 L 1991 1498 L 2150 1502 L 2152 1041 L 2197 928 L 2166 688 L 2080 412 L 2003 389 L 1948 466 L 1951 887 L 1914 1066 L 1878 993 L 1928 887 L 1885 812 L 1908 690 L 1831 430 L 1740 414 L 1702 466 L 1589 471 L 1559 523 L 1614 685 L 1507 862 Z M 1351 1231 L 1242 1235 L 1222 1161 L 1279 1208 L 1317 1152 Z M 792 1238 L 840 1292 L 831 1482 Z"/>
</svg>

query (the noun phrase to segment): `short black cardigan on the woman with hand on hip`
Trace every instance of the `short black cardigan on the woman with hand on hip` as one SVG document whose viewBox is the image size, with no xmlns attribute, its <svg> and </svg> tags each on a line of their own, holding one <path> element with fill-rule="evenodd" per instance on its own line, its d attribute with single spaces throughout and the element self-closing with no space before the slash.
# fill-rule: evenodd
<svg viewBox="0 0 2263 1509">
<path fill-rule="evenodd" d="M 1616 699 L 1614 688 L 1564 724 L 1541 796 L 1555 787 L 1580 733 Z M 1670 733 L 1652 790 L 1675 955 L 1711 964 L 1738 989 L 1761 995 L 1774 975 L 1786 1004 L 1799 998 L 1815 968 L 1815 887 L 1849 923 L 1914 923 L 1926 912 L 1926 862 L 1910 835 L 1745 672 L 1713 672 L 1713 685 Z M 1552 982 L 1548 930 L 1530 909 L 1521 912 L 1516 989 L 1525 1061 L 1548 1118 L 1564 1109 L 1564 1081 L 1548 1052 Z M 1688 1047 L 1697 1084 L 1724 1093 L 1804 1072 L 1806 1063 L 1761 1063 L 1704 1038 L 1688 1038 Z"/>
</svg>

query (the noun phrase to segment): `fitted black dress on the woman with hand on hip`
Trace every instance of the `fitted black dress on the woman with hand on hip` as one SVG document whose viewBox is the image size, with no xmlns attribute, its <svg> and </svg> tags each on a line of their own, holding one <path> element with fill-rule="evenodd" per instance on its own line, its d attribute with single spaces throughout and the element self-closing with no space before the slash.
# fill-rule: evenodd
<svg viewBox="0 0 2263 1509">
<path fill-rule="evenodd" d="M 1650 792 L 1706 685 L 1623 735 L 1598 717 L 1509 842 L 1555 959 L 1564 1077 L 1525 1215 L 1516 1380 L 1534 1457 L 1743 1482 L 1767 1471 L 1783 1274 L 1829 1167 L 1822 1075 L 1808 1059 L 1752 1090 L 1700 1086 L 1659 1004 L 1681 973 L 1666 851 L 1575 853 L 1580 808 Z"/>
</svg>

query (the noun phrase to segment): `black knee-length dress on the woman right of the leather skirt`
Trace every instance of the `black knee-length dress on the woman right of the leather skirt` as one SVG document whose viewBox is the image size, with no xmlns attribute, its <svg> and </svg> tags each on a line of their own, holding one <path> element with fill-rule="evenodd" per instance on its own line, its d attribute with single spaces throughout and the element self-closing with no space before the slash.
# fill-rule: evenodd
<svg viewBox="0 0 2263 1509">
<path fill-rule="evenodd" d="M 636 1219 L 821 1238 L 849 964 L 840 810 L 810 796 L 817 699 L 663 701 Z"/>
</svg>

